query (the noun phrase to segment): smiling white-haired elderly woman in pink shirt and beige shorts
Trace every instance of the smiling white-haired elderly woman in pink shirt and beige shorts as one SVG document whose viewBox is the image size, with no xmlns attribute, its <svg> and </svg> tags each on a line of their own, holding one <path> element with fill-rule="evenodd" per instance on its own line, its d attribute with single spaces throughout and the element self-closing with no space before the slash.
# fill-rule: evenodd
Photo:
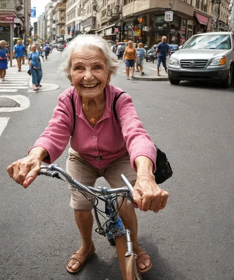
<svg viewBox="0 0 234 280">
<path fill-rule="evenodd" d="M 123 186 L 120 174 L 124 173 L 134 185 L 135 207 L 154 212 L 165 207 L 168 193 L 156 185 L 154 177 L 156 149 L 127 93 L 117 100 L 115 118 L 113 100 L 122 90 L 109 82 L 117 71 L 116 62 L 115 54 L 99 36 L 80 35 L 71 41 L 63 53 L 60 69 L 72 86 L 59 96 L 49 125 L 28 156 L 7 168 L 11 178 L 27 188 L 36 179 L 41 161 L 52 163 L 58 159 L 70 140 L 67 172 L 76 180 L 94 186 L 97 178 L 104 177 L 111 188 L 117 188 Z M 72 186 L 69 188 L 82 246 L 72 255 L 66 269 L 77 273 L 95 251 L 92 204 Z M 137 242 L 134 206 L 124 200 L 119 212 L 125 227 L 131 231 L 138 270 L 146 273 L 152 264 Z M 117 253 L 125 280 L 126 245 L 124 250 L 117 249 Z"/>
</svg>

